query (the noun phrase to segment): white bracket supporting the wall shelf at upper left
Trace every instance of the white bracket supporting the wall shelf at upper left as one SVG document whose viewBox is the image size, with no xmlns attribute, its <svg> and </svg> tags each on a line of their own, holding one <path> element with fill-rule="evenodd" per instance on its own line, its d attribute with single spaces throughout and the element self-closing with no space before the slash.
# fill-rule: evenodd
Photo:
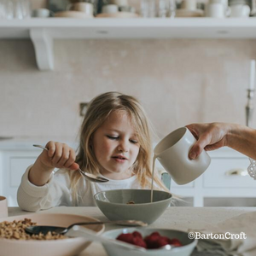
<svg viewBox="0 0 256 256">
<path fill-rule="evenodd" d="M 54 69 L 53 39 L 44 28 L 30 29 L 30 38 L 35 48 L 38 69 L 42 71 Z"/>
</svg>

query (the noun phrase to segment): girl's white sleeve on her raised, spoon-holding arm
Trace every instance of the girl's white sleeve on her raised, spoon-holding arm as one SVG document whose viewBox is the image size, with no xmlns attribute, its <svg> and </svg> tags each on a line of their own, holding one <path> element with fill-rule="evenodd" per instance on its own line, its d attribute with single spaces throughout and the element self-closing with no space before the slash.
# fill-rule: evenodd
<svg viewBox="0 0 256 256">
<path fill-rule="evenodd" d="M 69 189 L 70 180 L 65 170 L 51 173 L 48 183 L 44 186 L 36 186 L 28 179 L 31 167 L 29 166 L 22 176 L 17 193 L 17 201 L 22 210 L 38 212 L 56 206 L 73 206 Z"/>
</svg>

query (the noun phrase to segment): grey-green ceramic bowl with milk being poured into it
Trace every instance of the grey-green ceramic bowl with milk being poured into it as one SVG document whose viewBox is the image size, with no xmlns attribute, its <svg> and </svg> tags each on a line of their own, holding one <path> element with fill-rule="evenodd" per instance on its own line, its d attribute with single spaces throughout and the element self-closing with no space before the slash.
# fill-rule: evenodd
<svg viewBox="0 0 256 256">
<path fill-rule="evenodd" d="M 172 194 L 154 190 L 150 202 L 150 189 L 115 189 L 102 191 L 94 197 L 96 205 L 110 220 L 135 219 L 152 224 L 172 201 Z M 134 201 L 135 204 L 127 204 Z"/>
</svg>

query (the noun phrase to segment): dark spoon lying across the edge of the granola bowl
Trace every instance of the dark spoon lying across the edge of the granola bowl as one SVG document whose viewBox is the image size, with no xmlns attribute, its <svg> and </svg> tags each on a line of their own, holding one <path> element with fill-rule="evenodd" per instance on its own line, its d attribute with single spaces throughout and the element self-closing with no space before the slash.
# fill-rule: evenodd
<svg viewBox="0 0 256 256">
<path fill-rule="evenodd" d="M 119 224 L 123 226 L 142 226 L 145 227 L 148 224 L 144 223 L 140 220 L 116 220 L 116 221 L 90 221 L 90 222 L 79 222 L 75 224 L 69 225 L 66 227 L 56 227 L 56 226 L 45 226 L 45 225 L 36 225 L 36 226 L 29 226 L 26 227 L 26 233 L 38 235 L 42 233 L 46 235 L 48 232 L 55 232 L 56 234 L 64 235 L 67 233 L 68 230 L 72 229 L 75 225 L 90 225 L 90 224 Z"/>
</svg>

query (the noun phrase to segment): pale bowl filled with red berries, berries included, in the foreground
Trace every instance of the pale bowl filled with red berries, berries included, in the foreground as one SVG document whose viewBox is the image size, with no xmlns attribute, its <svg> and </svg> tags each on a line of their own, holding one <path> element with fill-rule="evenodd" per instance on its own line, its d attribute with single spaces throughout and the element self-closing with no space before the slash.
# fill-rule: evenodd
<svg viewBox="0 0 256 256">
<path fill-rule="evenodd" d="M 189 256 L 197 244 L 196 239 L 189 239 L 188 233 L 180 230 L 128 228 L 109 230 L 102 236 L 146 249 L 145 251 L 128 250 L 124 247 L 103 244 L 109 256 Z M 171 249 L 166 247 L 167 245 L 170 245 Z"/>
</svg>

